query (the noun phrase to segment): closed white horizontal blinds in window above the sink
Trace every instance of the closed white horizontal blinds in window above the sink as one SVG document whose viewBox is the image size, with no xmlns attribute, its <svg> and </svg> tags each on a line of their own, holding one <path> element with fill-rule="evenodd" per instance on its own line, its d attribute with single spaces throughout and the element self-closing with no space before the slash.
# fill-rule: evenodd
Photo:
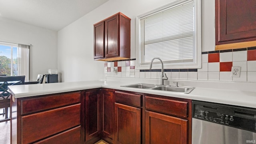
<svg viewBox="0 0 256 144">
<path fill-rule="evenodd" d="M 193 62 L 194 5 L 188 2 L 140 19 L 141 65 L 160 57 L 165 63 Z"/>
</svg>

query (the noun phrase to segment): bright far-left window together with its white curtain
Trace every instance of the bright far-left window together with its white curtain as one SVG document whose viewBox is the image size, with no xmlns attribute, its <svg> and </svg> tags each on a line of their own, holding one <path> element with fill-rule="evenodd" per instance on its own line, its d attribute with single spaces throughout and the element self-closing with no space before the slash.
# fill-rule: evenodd
<svg viewBox="0 0 256 144">
<path fill-rule="evenodd" d="M 0 74 L 30 76 L 30 46 L 0 42 Z"/>
</svg>

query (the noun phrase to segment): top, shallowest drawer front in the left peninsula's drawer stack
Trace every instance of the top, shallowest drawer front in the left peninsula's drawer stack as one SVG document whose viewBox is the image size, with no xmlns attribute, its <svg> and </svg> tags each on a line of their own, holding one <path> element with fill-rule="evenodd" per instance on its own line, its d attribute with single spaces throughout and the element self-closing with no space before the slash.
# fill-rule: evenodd
<svg viewBox="0 0 256 144">
<path fill-rule="evenodd" d="M 21 100 L 21 114 L 80 103 L 80 92 Z"/>
</svg>

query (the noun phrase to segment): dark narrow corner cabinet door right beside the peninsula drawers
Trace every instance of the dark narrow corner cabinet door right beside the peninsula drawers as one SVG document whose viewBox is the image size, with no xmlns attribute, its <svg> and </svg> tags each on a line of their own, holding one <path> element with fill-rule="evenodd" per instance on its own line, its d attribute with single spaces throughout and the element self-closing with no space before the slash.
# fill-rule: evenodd
<svg viewBox="0 0 256 144">
<path fill-rule="evenodd" d="M 98 90 L 85 93 L 85 141 L 100 137 L 101 98 Z"/>
</svg>

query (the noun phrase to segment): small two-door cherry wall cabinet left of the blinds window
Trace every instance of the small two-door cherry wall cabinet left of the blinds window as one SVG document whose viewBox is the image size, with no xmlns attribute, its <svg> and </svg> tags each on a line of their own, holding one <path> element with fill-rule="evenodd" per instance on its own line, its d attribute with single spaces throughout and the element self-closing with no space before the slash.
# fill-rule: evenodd
<svg viewBox="0 0 256 144">
<path fill-rule="evenodd" d="M 130 59 L 130 20 L 118 12 L 94 24 L 94 60 Z"/>
</svg>

